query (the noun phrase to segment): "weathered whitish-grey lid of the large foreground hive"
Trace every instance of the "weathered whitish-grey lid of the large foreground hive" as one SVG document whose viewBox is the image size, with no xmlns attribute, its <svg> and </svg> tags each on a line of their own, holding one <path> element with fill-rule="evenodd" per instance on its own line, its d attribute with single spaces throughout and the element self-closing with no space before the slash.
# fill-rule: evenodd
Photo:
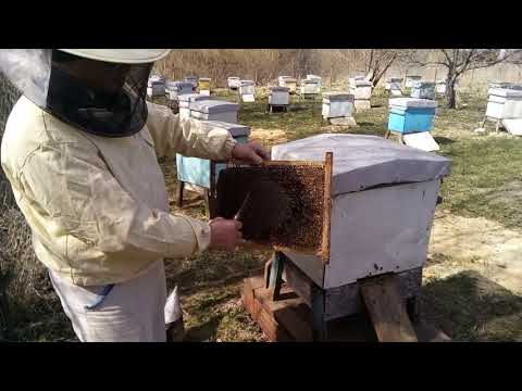
<svg viewBox="0 0 522 391">
<path fill-rule="evenodd" d="M 272 148 L 273 160 L 324 161 L 334 153 L 332 194 L 449 175 L 449 159 L 382 137 L 323 134 Z"/>
</svg>

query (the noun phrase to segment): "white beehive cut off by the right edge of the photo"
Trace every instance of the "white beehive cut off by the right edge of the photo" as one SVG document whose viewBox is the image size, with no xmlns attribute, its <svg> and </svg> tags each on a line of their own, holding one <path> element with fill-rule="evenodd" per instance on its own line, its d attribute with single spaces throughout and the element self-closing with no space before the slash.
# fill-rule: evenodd
<svg viewBox="0 0 522 391">
<path fill-rule="evenodd" d="M 522 90 L 492 88 L 487 94 L 486 117 L 522 118 Z"/>
</svg>

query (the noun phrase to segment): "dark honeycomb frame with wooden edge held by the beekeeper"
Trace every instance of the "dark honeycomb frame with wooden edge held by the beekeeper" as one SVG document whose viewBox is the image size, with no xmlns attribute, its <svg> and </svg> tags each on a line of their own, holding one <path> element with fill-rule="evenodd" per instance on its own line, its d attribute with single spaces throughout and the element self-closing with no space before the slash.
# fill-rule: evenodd
<svg viewBox="0 0 522 391">
<path fill-rule="evenodd" d="M 249 195 L 241 214 L 246 240 L 319 254 L 330 242 L 330 181 L 326 164 L 316 162 L 227 168 L 217 181 L 216 214 L 234 218 Z"/>
</svg>

